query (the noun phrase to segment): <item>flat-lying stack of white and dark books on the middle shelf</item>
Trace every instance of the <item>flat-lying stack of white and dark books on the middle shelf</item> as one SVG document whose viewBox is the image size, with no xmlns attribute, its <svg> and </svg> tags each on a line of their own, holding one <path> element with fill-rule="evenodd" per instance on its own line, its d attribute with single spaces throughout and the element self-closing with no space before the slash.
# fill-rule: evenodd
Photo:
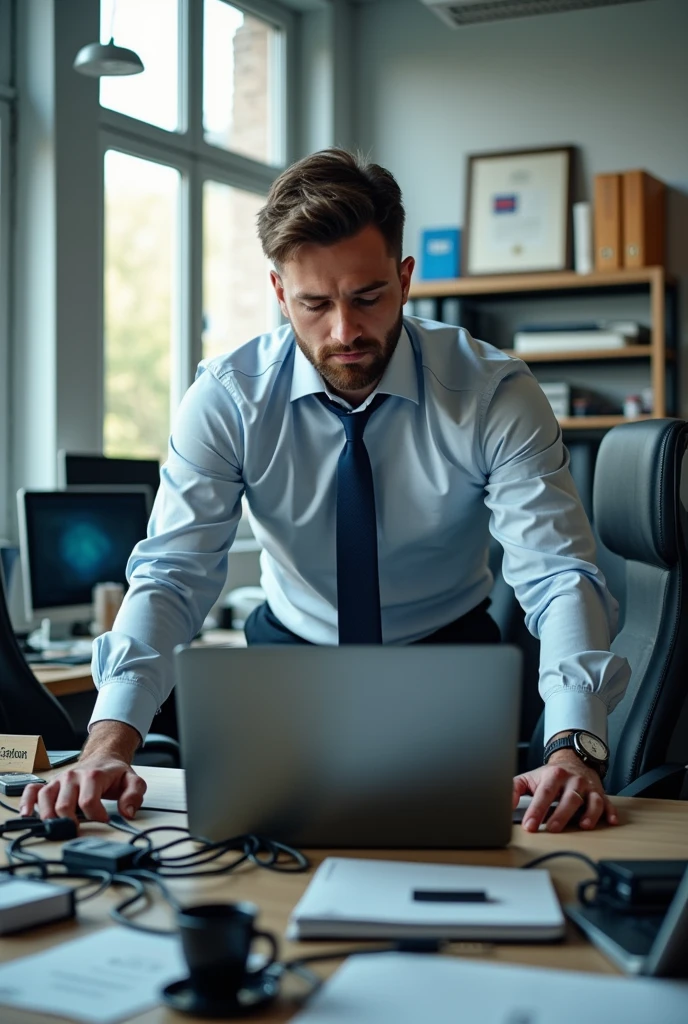
<svg viewBox="0 0 688 1024">
<path fill-rule="evenodd" d="M 643 345 L 649 329 L 635 321 L 585 321 L 573 324 L 527 324 L 514 334 L 514 351 L 594 352 Z"/>
</svg>

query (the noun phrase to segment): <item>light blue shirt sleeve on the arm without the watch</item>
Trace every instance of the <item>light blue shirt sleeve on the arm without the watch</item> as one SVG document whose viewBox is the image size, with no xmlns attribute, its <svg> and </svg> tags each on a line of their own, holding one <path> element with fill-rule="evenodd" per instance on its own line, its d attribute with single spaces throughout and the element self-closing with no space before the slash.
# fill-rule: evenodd
<svg viewBox="0 0 688 1024">
<path fill-rule="evenodd" d="M 209 372 L 184 396 L 147 537 L 127 566 L 129 590 L 112 632 L 93 644 L 98 696 L 89 724 L 115 719 L 143 737 L 173 685 L 172 651 L 196 636 L 226 579 L 242 513 L 239 411 Z"/>
</svg>

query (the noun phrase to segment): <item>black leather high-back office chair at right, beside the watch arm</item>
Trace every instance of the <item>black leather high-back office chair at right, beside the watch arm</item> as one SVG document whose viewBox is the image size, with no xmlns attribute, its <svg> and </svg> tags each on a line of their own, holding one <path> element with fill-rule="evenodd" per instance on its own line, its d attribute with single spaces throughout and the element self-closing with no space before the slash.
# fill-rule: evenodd
<svg viewBox="0 0 688 1024">
<path fill-rule="evenodd" d="M 624 625 L 612 643 L 632 677 L 609 716 L 605 787 L 620 796 L 679 797 L 688 763 L 688 424 L 614 427 L 595 468 L 594 518 L 626 560 Z M 683 488 L 683 492 L 682 492 Z M 543 722 L 531 743 L 542 763 Z M 676 764 L 668 763 L 674 757 Z"/>
</svg>

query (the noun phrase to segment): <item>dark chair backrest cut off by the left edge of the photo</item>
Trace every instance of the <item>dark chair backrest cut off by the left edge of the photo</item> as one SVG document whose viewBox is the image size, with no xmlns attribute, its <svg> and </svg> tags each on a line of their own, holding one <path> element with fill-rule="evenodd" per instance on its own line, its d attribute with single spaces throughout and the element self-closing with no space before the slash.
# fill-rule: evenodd
<svg viewBox="0 0 688 1024">
<path fill-rule="evenodd" d="M 0 732 L 41 735 L 52 750 L 80 745 L 55 697 L 31 671 L 14 637 L 0 578 Z"/>
</svg>

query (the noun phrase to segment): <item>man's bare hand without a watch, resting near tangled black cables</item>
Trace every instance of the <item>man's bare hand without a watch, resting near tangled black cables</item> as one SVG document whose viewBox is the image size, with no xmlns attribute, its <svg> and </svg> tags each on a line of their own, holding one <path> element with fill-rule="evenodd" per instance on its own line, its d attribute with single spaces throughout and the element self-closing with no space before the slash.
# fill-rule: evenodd
<svg viewBox="0 0 688 1024">
<path fill-rule="evenodd" d="M 141 741 L 136 729 L 124 722 L 96 722 L 79 761 L 45 785 L 33 783 L 22 795 L 19 813 L 42 818 L 77 820 L 81 808 L 92 821 L 107 821 L 103 800 L 117 800 L 125 818 L 133 818 L 143 802 L 145 782 L 131 767 Z"/>
</svg>

